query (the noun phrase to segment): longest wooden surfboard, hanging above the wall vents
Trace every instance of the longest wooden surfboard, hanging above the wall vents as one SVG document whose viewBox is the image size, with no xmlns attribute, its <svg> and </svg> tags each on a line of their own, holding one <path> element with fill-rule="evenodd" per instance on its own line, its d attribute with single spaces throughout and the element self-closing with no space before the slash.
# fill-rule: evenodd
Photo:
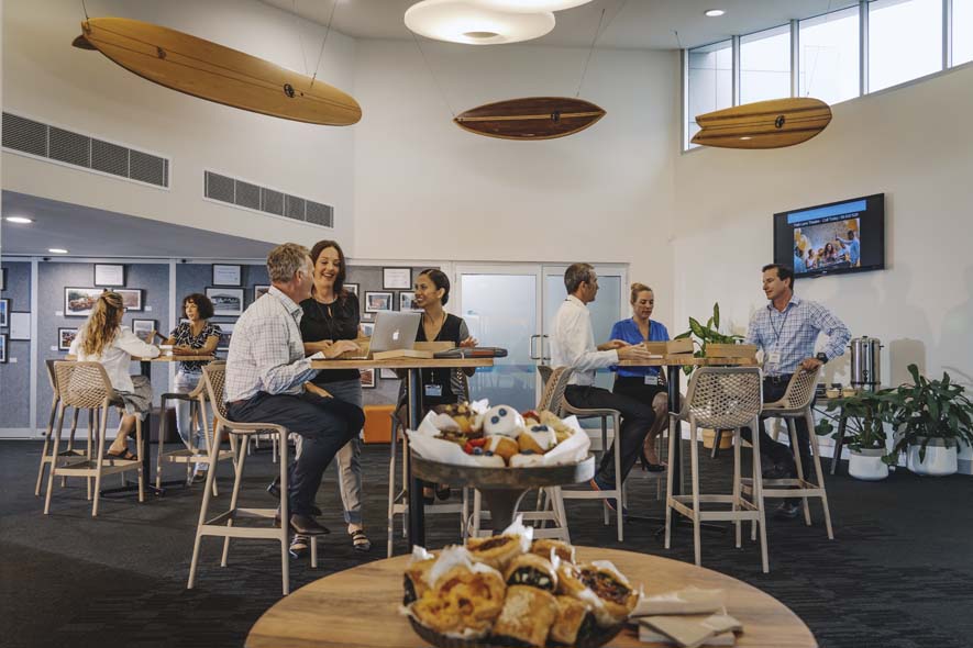
<svg viewBox="0 0 973 648">
<path fill-rule="evenodd" d="M 140 77 L 224 105 L 285 120 L 347 126 L 362 119 L 355 99 L 323 81 L 152 23 L 93 18 L 73 45 L 98 49 Z"/>
</svg>

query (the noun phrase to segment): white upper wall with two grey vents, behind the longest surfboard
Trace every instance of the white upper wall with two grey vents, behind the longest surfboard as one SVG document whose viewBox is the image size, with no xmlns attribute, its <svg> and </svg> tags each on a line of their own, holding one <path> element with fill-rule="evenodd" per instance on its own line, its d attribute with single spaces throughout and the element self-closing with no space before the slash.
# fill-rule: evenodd
<svg viewBox="0 0 973 648">
<path fill-rule="evenodd" d="M 173 160 L 165 191 L 4 153 L 4 189 L 268 242 L 313 241 L 325 232 L 203 201 L 202 169 L 212 168 L 334 205 L 335 235 L 351 242 L 351 129 L 203 101 L 71 47 L 85 18 L 77 0 L 8 2 L 4 9 L 4 110 Z M 300 72 L 305 56 L 313 72 L 324 37 L 324 27 L 255 0 L 98 0 L 88 10 L 92 18 L 134 18 L 188 32 Z M 318 78 L 354 94 L 354 40 L 332 32 Z"/>
</svg>

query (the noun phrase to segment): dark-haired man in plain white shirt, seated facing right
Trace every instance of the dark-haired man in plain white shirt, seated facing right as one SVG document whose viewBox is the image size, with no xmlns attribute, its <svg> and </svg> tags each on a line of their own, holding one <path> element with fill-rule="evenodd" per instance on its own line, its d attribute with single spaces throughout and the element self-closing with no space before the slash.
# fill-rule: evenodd
<svg viewBox="0 0 973 648">
<path fill-rule="evenodd" d="M 655 412 L 649 403 L 594 387 L 595 370 L 618 365 L 619 360 L 648 360 L 652 356 L 645 347 L 620 339 L 595 346 L 587 304 L 595 301 L 598 293 L 598 276 L 591 265 L 572 264 L 564 272 L 564 287 L 567 299 L 554 317 L 551 361 L 555 367 L 574 369 L 564 392 L 564 398 L 573 406 L 621 412 L 621 474 L 615 473 L 615 451 L 609 449 L 602 455 L 598 472 L 591 480 L 591 488 L 610 490 L 615 488 L 616 479 L 624 481 L 635 465 L 642 442 L 655 421 Z M 608 505 L 615 509 L 615 500 L 608 500 Z"/>
</svg>

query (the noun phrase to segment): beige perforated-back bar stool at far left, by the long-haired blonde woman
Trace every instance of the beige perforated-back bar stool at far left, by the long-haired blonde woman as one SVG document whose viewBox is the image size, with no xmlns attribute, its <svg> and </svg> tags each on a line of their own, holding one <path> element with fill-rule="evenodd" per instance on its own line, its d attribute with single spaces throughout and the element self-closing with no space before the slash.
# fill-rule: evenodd
<svg viewBox="0 0 973 648">
<path fill-rule="evenodd" d="M 74 362 L 57 360 L 54 362 L 54 377 L 57 384 L 57 393 L 59 396 L 57 427 L 54 433 L 54 448 L 52 457 L 59 455 L 60 431 L 64 426 L 64 412 L 68 407 L 75 410 L 88 410 L 89 426 L 89 446 L 96 443 L 88 457 L 84 461 L 73 461 L 63 466 L 58 466 L 56 461 L 51 462 L 51 470 L 47 473 L 47 495 L 44 499 L 44 515 L 51 512 L 51 494 L 54 488 L 54 478 L 58 474 L 64 477 L 93 477 L 95 478 L 95 503 L 91 506 L 91 516 L 98 516 L 98 503 L 101 494 L 101 477 L 103 474 L 113 474 L 117 472 L 128 472 L 134 470 L 139 472 L 139 501 L 145 501 L 145 474 L 142 472 L 142 418 L 135 417 L 135 447 L 137 448 L 136 459 L 122 459 L 119 457 L 107 457 L 104 455 L 104 434 L 108 424 L 108 412 L 111 406 L 123 405 L 122 399 L 115 393 L 108 379 L 108 373 L 98 362 Z M 99 424 L 96 427 L 96 413 L 98 414 Z M 95 438 L 91 437 L 91 431 L 95 431 Z M 89 491 L 90 499 L 90 491 Z"/>
</svg>

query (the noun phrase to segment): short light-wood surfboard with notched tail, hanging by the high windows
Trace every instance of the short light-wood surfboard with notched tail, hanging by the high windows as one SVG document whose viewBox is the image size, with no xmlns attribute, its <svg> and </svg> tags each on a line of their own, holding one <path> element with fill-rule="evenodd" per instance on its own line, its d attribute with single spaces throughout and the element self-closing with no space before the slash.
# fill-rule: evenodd
<svg viewBox="0 0 973 648">
<path fill-rule="evenodd" d="M 831 122 L 831 108 L 798 97 L 756 101 L 698 115 L 693 144 L 721 148 L 783 148 L 807 142 Z"/>
</svg>

